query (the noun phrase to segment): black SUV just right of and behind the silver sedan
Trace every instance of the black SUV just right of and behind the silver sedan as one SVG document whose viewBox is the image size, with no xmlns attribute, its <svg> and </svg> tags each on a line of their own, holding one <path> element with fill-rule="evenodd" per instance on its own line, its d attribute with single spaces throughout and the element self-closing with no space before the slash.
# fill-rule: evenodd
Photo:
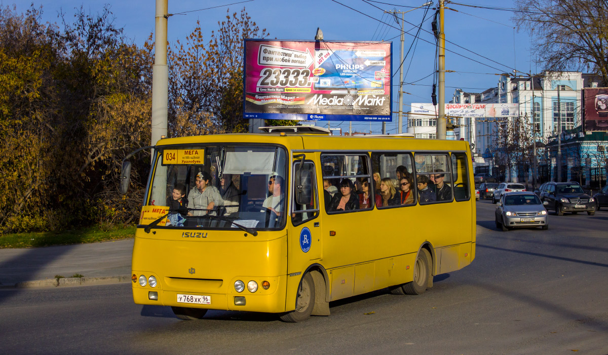
<svg viewBox="0 0 608 355">
<path fill-rule="evenodd" d="M 582 191 L 578 183 L 544 183 L 538 195 L 545 208 L 553 209 L 558 216 L 564 212 L 587 212 L 590 216 L 595 214 L 595 199 Z"/>
</svg>

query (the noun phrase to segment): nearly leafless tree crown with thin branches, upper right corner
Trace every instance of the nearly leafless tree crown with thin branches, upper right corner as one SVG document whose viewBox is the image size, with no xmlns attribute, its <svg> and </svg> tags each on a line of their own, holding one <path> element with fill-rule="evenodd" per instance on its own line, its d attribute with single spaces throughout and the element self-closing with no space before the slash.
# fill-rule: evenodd
<svg viewBox="0 0 608 355">
<path fill-rule="evenodd" d="M 608 85 L 608 0 L 515 0 L 548 71 L 593 71 Z"/>
</svg>

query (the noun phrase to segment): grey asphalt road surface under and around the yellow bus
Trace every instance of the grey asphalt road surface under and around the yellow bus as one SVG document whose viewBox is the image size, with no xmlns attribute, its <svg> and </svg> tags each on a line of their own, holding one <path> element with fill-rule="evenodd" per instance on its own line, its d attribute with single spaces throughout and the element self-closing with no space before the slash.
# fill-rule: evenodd
<svg viewBox="0 0 608 355">
<path fill-rule="evenodd" d="M 220 311 L 179 321 L 133 304 L 130 284 L 4 289 L 0 353 L 608 354 L 608 211 L 550 213 L 547 231 L 498 231 L 487 201 L 477 216 L 474 262 L 423 295 L 381 290 L 292 324 Z"/>
</svg>

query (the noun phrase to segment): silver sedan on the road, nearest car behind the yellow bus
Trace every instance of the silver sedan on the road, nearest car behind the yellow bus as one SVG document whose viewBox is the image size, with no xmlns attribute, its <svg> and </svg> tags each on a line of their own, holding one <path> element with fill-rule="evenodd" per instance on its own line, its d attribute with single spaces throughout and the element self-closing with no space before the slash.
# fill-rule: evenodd
<svg viewBox="0 0 608 355">
<path fill-rule="evenodd" d="M 515 227 L 549 229 L 547 209 L 533 192 L 505 192 L 496 204 L 496 228 L 503 231 Z"/>
</svg>

